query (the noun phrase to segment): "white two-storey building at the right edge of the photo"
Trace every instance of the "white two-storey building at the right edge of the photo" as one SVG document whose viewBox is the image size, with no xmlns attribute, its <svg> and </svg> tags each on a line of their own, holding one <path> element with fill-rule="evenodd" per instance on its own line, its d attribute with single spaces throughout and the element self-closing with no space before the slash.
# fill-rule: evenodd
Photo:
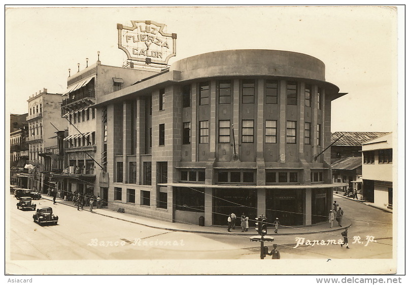
<svg viewBox="0 0 410 285">
<path fill-rule="evenodd" d="M 364 199 L 393 209 L 393 134 L 367 141 L 362 148 Z"/>
</svg>

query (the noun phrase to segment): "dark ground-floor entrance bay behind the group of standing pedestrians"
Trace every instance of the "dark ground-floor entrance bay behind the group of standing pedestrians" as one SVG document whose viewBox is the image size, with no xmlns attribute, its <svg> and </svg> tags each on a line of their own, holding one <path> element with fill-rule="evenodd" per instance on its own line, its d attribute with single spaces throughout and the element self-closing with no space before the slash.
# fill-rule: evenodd
<svg viewBox="0 0 410 285">
<path fill-rule="evenodd" d="M 241 227 L 241 215 L 255 220 L 256 190 L 254 189 L 213 189 L 212 217 L 214 225 L 226 226 L 228 215 L 236 215 L 235 226 Z M 251 225 L 249 225 L 251 227 Z"/>
</svg>

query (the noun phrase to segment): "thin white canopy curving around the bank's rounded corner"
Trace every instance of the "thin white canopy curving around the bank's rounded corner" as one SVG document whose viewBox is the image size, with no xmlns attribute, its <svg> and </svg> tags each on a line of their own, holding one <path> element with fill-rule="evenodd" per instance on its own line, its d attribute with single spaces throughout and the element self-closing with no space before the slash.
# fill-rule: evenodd
<svg viewBox="0 0 410 285">
<path fill-rule="evenodd" d="M 312 184 L 312 185 L 205 185 L 195 183 L 159 183 L 159 186 L 172 186 L 172 187 L 188 187 L 188 188 L 218 188 L 218 189 L 318 189 L 318 188 L 334 188 L 334 187 L 346 187 L 348 183 L 330 183 L 330 184 Z"/>
</svg>

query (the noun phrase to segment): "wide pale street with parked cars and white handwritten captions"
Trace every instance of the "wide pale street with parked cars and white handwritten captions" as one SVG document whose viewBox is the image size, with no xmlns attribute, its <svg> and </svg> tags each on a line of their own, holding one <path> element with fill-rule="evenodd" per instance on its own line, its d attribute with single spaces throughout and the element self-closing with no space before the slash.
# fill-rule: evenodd
<svg viewBox="0 0 410 285">
<path fill-rule="evenodd" d="M 341 248 L 339 244 L 318 244 L 321 240 L 326 244 L 329 239 L 337 241 L 341 238 L 341 229 L 300 236 L 275 235 L 269 229 L 268 234 L 275 237 L 281 259 L 392 258 L 392 214 L 342 197 L 335 197 L 335 200 L 344 209 L 345 218 L 352 221 L 348 232 L 350 249 Z M 10 195 L 11 260 L 260 258 L 260 243 L 250 242 L 249 236 L 241 235 L 239 229 L 233 230 L 232 235 L 154 229 L 101 216 L 90 212 L 88 207 L 78 211 L 64 204 L 53 205 L 46 199 L 36 200 L 37 207 L 53 207 L 59 221 L 57 225 L 39 226 L 32 220 L 34 211 L 17 209 L 16 201 Z M 309 231 L 309 227 L 305 229 Z M 249 230 L 257 234 L 251 224 Z M 357 242 L 358 236 L 362 243 Z M 302 244 L 296 244 L 297 238 Z M 318 240 L 318 243 L 306 245 L 307 240 Z M 272 249 L 272 243 L 265 245 L 269 246 L 269 251 Z"/>
</svg>

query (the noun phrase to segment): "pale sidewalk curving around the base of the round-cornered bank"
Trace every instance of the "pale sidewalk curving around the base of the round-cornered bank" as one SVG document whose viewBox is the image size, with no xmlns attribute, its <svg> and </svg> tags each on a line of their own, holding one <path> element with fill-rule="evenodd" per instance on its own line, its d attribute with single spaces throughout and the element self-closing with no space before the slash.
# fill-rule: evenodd
<svg viewBox="0 0 410 285">
<path fill-rule="evenodd" d="M 52 201 L 52 198 L 44 195 L 42 197 L 43 199 L 50 200 Z M 73 201 L 64 201 L 61 198 L 57 198 L 56 202 L 59 204 L 71 206 L 77 208 L 77 206 L 74 206 Z M 84 206 L 84 211 L 89 211 L 89 206 L 85 207 Z M 127 211 L 127 209 L 125 209 Z M 106 208 L 100 208 L 97 209 L 94 207 L 92 209 L 93 213 L 96 213 L 97 215 L 101 215 L 104 217 L 109 217 L 121 221 L 126 221 L 129 223 L 133 224 L 138 224 L 154 229 L 162 229 L 162 230 L 168 230 L 168 231 L 176 231 L 176 232 L 189 232 L 189 233 L 200 233 L 200 234 L 221 234 L 221 235 L 231 235 L 231 234 L 241 234 L 241 235 L 246 235 L 249 237 L 257 235 L 255 231 L 255 226 L 252 224 L 252 222 L 249 222 L 249 231 L 248 232 L 242 232 L 241 227 L 236 227 L 236 229 L 231 229 L 231 232 L 227 231 L 227 226 L 210 226 L 210 227 L 202 227 L 198 225 L 191 225 L 191 224 L 183 224 L 183 223 L 171 223 L 171 222 L 166 222 L 166 221 L 161 221 L 161 220 L 156 220 L 156 219 L 151 219 L 151 218 L 146 218 L 142 216 L 136 216 L 132 215 L 131 213 L 120 213 L 117 212 L 116 210 L 108 209 Z M 300 234 L 311 234 L 311 233 L 317 233 L 317 232 L 331 232 L 331 231 L 339 231 L 340 229 L 348 228 L 352 225 L 351 221 L 349 219 L 343 219 L 343 227 L 339 227 L 337 225 L 337 222 L 334 221 L 333 223 L 333 228 L 330 228 L 330 224 L 328 222 L 323 222 L 320 224 L 312 225 L 312 226 L 295 226 L 295 227 L 286 227 L 286 226 L 280 226 L 279 227 L 279 233 L 274 233 L 274 228 L 269 227 L 268 228 L 268 235 L 275 237 L 279 235 L 300 235 Z"/>
</svg>

